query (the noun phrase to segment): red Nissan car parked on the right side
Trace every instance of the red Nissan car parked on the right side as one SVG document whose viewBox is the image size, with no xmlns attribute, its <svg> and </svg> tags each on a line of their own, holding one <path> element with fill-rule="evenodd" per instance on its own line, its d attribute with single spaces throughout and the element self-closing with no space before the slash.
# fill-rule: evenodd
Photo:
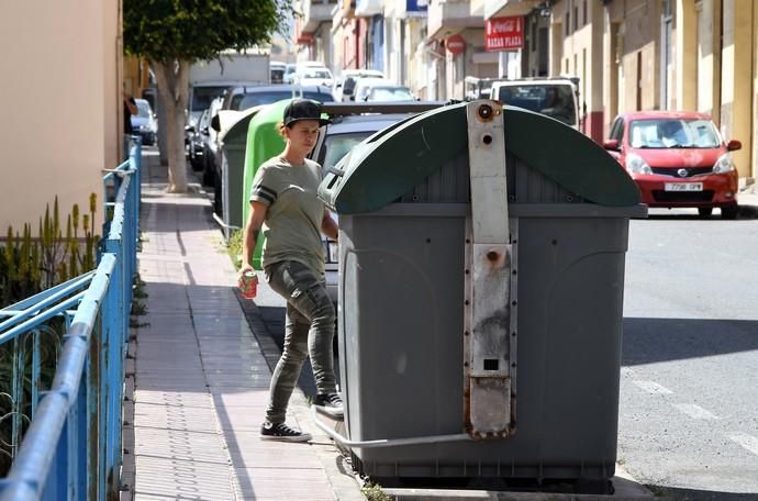
<svg viewBox="0 0 758 501">
<path fill-rule="evenodd" d="M 709 216 L 721 209 L 737 216 L 737 169 L 729 152 L 739 141 L 724 143 L 703 113 L 648 111 L 618 115 L 603 147 L 635 180 L 649 207 L 696 208 Z"/>
</svg>

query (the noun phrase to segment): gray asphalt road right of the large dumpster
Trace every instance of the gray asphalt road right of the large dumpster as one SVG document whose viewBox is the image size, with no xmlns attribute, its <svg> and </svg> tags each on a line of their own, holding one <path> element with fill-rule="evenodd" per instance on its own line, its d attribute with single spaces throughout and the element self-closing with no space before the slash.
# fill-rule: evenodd
<svg viewBox="0 0 758 501">
<path fill-rule="evenodd" d="M 758 500 L 755 210 L 650 213 L 629 232 L 620 461 L 670 499 Z"/>
</svg>

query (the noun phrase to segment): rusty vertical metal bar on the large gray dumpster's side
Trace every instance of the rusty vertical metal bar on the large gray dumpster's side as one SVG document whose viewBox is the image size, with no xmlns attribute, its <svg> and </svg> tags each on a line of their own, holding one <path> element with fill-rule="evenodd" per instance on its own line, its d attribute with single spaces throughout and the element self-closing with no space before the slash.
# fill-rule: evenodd
<svg viewBox="0 0 758 501">
<path fill-rule="evenodd" d="M 467 219 L 464 410 L 473 438 L 515 431 L 515 270 L 508 215 L 503 109 L 467 105 L 471 214 Z"/>
</svg>

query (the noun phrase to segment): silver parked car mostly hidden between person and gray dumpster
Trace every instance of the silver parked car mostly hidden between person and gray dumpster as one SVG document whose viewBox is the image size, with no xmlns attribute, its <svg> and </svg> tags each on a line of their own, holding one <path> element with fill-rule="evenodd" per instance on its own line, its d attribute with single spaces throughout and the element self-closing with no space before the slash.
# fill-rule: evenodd
<svg viewBox="0 0 758 501">
<path fill-rule="evenodd" d="M 392 104 L 327 103 L 322 107 L 332 123 L 319 130 L 316 145 L 310 158 L 322 166 L 324 175 L 357 144 L 374 133 L 401 120 L 442 105 L 439 102 L 410 102 Z M 333 214 L 335 221 L 337 215 Z M 326 290 L 337 301 L 338 252 L 336 242 L 322 240 L 326 255 Z"/>
</svg>

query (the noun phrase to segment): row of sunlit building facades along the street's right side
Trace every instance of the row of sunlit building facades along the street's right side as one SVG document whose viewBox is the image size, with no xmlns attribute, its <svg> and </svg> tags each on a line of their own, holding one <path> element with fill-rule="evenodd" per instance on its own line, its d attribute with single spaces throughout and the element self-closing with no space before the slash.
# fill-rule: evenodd
<svg viewBox="0 0 758 501">
<path fill-rule="evenodd" d="M 341 1 L 331 36 L 347 46 L 334 48 L 337 74 L 382 69 L 434 100 L 461 99 L 466 76 L 578 77 L 581 130 L 597 142 L 622 112 L 701 111 L 743 143 L 740 177 L 756 177 L 755 0 Z M 523 46 L 488 52 L 486 23 L 513 16 L 523 19 Z"/>
</svg>

